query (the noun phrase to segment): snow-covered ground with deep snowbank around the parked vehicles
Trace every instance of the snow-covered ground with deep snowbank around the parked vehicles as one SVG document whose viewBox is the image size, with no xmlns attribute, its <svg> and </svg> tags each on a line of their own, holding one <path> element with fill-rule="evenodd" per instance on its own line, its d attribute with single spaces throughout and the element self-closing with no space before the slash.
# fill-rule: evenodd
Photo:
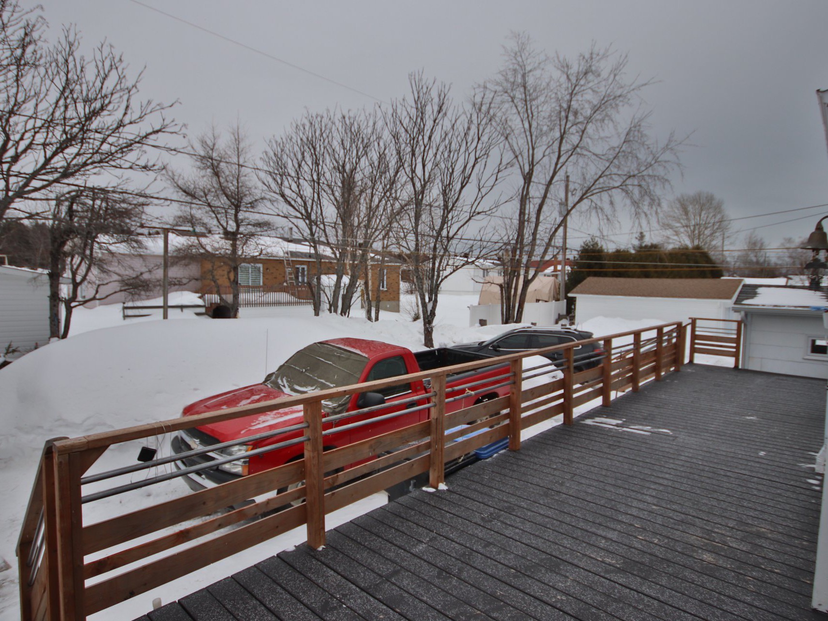
<svg viewBox="0 0 828 621">
<path fill-rule="evenodd" d="M 480 341 L 508 329 L 468 327 L 467 308 L 476 301 L 475 295 L 440 297 L 436 344 Z M 186 296 L 177 296 L 171 303 L 187 303 Z M 407 303 L 412 300 L 403 300 L 403 308 Z M 194 400 L 261 381 L 297 349 L 326 338 L 373 338 L 421 349 L 421 324 L 405 314 L 382 313 L 378 323 L 370 323 L 359 317 L 315 318 L 310 307 L 287 307 L 268 318 L 214 321 L 176 312 L 171 318 L 188 321 L 143 318 L 125 322 L 120 305 L 76 311 L 72 337 L 31 352 L 0 371 L 0 425 L 5 432 L 0 437 L 0 496 L 4 499 L 0 507 L 0 557 L 12 565 L 12 570 L 0 571 L 0 621 L 18 618 L 14 546 L 45 439 L 175 418 Z M 654 323 L 596 318 L 582 327 L 602 336 Z M 582 405 L 579 413 L 593 406 Z M 560 424 L 557 418 L 527 429 L 524 437 Z M 163 454 L 169 450 L 168 441 L 161 437 L 151 444 Z M 131 463 L 142 445 L 113 447 L 102 461 Z M 154 504 L 180 494 L 181 483 L 171 481 L 147 489 L 152 491 L 140 492 L 140 502 Z M 112 499 L 115 505 L 132 502 L 116 498 Z M 327 526 L 347 522 L 384 502 L 385 496 L 377 494 L 345 507 L 328 517 Z M 87 505 L 87 522 L 98 522 L 115 508 L 105 503 L 95 508 L 98 504 Z M 296 529 L 93 619 L 132 619 L 151 609 L 153 598 L 167 603 L 304 540 L 304 528 Z"/>
</svg>

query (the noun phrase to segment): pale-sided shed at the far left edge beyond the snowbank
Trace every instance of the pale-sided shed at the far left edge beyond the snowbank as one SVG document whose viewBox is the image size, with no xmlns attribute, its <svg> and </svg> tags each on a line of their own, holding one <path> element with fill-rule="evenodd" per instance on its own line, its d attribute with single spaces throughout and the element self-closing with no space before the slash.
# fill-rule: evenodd
<svg viewBox="0 0 828 621">
<path fill-rule="evenodd" d="M 46 271 L 0 265 L 0 355 L 11 344 L 21 352 L 49 342 Z"/>
</svg>

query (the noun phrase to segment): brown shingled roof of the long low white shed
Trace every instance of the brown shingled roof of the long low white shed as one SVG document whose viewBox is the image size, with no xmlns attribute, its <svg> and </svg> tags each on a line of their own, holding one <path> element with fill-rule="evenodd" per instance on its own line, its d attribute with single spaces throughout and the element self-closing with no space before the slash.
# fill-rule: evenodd
<svg viewBox="0 0 828 621">
<path fill-rule="evenodd" d="M 604 278 L 590 276 L 570 295 L 617 295 L 628 298 L 731 299 L 742 279 Z"/>
</svg>

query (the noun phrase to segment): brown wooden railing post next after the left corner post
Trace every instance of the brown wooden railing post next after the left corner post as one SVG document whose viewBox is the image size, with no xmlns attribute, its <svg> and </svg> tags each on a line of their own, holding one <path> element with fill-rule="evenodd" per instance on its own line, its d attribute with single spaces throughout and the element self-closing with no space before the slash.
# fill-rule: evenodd
<svg viewBox="0 0 828 621">
<path fill-rule="evenodd" d="M 305 443 L 305 507 L 308 546 L 325 546 L 325 473 L 322 471 L 322 402 L 302 406 L 308 425 Z"/>
</svg>

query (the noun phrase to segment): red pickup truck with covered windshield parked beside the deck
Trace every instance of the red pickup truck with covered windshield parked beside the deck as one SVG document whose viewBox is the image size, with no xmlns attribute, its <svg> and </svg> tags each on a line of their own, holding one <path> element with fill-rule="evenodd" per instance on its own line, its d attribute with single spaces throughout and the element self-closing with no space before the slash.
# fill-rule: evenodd
<svg viewBox="0 0 828 621">
<path fill-rule="evenodd" d="M 187 405 L 182 415 L 204 414 L 205 412 L 278 399 L 287 395 L 301 395 L 338 386 L 349 386 L 363 381 L 384 380 L 484 358 L 486 356 L 478 353 L 462 352 L 448 348 L 429 349 L 424 352 L 413 353 L 406 347 L 389 345 L 379 341 L 368 341 L 360 338 L 336 338 L 330 341 L 315 342 L 304 347 L 291 356 L 282 366 L 279 366 L 277 371 L 268 375 L 261 384 L 245 386 L 244 388 L 196 401 Z M 503 384 L 503 375 L 507 372 L 508 366 L 506 364 L 495 362 L 493 366 L 449 375 L 446 378 L 446 395 L 448 397 L 468 396 L 447 402 L 446 413 L 455 412 L 485 400 L 495 399 L 498 396 L 508 395 L 508 386 L 498 386 Z M 474 386 L 466 390 L 466 386 L 470 384 L 474 384 Z M 342 433 L 326 435 L 325 449 L 359 442 L 359 440 L 385 434 L 428 419 L 429 410 L 418 407 L 428 403 L 425 396 L 428 392 L 424 382 L 416 380 L 397 386 L 388 386 L 377 392 L 348 395 L 338 400 L 323 402 L 323 431 L 335 429 L 336 425 L 344 426 L 366 421 L 365 425 L 344 429 Z M 473 394 L 473 392 L 476 394 Z M 416 400 L 418 395 L 423 395 L 423 398 Z M 395 405 L 396 402 L 400 401 L 402 403 Z M 341 421 L 325 421 L 330 416 L 383 404 L 388 405 L 388 407 L 373 409 Z M 383 418 L 384 415 L 400 412 L 403 409 L 411 409 L 412 412 Z M 372 424 L 368 422 L 370 420 L 376 420 L 376 422 Z M 186 474 L 184 477 L 185 483 L 196 491 L 214 484 L 226 483 L 247 474 L 258 473 L 267 468 L 276 468 L 283 463 L 301 458 L 303 454 L 302 444 L 262 451 L 252 458 L 245 457 L 245 454 L 252 450 L 263 449 L 268 445 L 300 437 L 301 431 L 296 430 L 286 434 L 270 434 L 269 432 L 285 429 L 302 422 L 301 407 L 292 407 L 182 430 L 172 440 L 173 451 L 176 454 L 182 454 L 182 458 L 176 462 L 176 466 L 180 469 L 205 466 L 211 461 L 226 460 L 229 457 L 238 456 L 238 459 L 220 463 L 214 468 L 208 466 L 198 472 Z M 268 437 L 252 439 L 249 442 L 243 441 L 245 438 L 262 434 L 266 434 Z M 213 444 L 234 442 L 239 444 L 224 446 L 213 452 L 202 452 L 195 456 L 186 455 L 190 451 L 205 449 Z"/>
</svg>

